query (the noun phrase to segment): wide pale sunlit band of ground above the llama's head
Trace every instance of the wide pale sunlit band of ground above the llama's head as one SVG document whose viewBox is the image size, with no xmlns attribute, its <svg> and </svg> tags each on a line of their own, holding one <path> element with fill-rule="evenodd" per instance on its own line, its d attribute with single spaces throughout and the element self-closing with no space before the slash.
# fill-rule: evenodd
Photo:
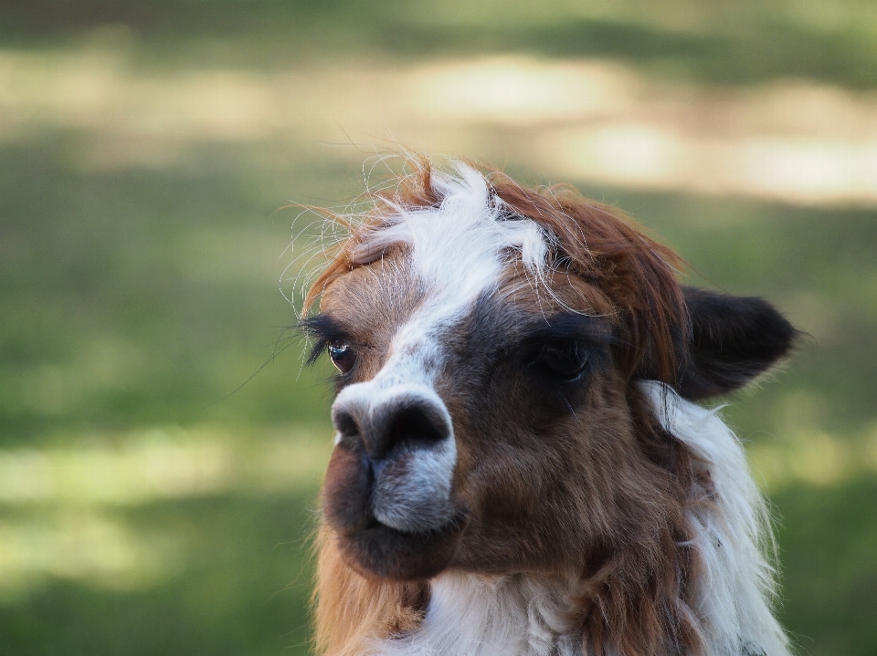
<svg viewBox="0 0 877 656">
<path fill-rule="evenodd" d="M 134 66 L 123 44 L 0 50 L 7 141 L 88 135 L 86 169 L 185 166 L 205 143 L 362 143 L 512 158 L 552 176 L 787 203 L 877 203 L 877 101 L 803 78 L 757 89 L 620 60 L 331 58 L 266 72 Z M 314 75 L 313 71 L 319 74 Z M 491 130 L 485 138 L 485 129 Z M 497 138 L 501 136 L 501 138 Z M 355 148 L 336 156 L 362 159 Z"/>
</svg>

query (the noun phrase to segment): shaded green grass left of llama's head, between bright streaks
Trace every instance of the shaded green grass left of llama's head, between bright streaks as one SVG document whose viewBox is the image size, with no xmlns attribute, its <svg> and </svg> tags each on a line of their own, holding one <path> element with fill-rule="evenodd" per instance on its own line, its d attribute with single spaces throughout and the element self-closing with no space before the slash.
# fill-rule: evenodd
<svg viewBox="0 0 877 656">
<path fill-rule="evenodd" d="M 290 390 L 301 349 L 219 402 L 292 337 L 277 262 L 294 213 L 272 217 L 284 198 L 315 193 L 319 172 L 286 169 L 302 186 L 281 191 L 270 184 L 280 172 L 83 173 L 68 154 L 57 142 L 2 153 L 0 440 L 50 426 L 324 417 L 319 382 Z"/>
</svg>

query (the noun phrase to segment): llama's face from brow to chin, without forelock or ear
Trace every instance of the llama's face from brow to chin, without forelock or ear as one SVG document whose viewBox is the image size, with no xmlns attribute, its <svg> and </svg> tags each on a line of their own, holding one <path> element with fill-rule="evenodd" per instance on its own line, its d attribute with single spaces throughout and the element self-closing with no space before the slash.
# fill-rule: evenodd
<svg viewBox="0 0 877 656">
<path fill-rule="evenodd" d="M 558 547 L 608 521 L 615 477 L 599 473 L 631 441 L 608 322 L 514 276 L 457 299 L 414 266 L 401 251 L 323 298 L 321 329 L 350 358 L 328 520 L 355 566 L 392 578 L 564 565 Z"/>
</svg>

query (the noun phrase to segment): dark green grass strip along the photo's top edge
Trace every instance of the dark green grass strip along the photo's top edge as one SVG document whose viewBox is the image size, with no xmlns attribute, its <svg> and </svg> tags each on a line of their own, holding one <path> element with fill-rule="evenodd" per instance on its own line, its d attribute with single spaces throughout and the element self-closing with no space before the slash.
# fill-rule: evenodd
<svg viewBox="0 0 877 656">
<path fill-rule="evenodd" d="M 569 7 L 552 14 L 513 5 L 507 15 L 477 20 L 453 2 L 417 6 L 398 0 L 218 0 L 207 6 L 199 0 L 12 0 L 3 10 L 0 43 L 57 46 L 96 27 L 126 26 L 143 39 L 144 51 L 154 50 L 147 58 L 183 57 L 189 65 L 205 52 L 269 68 L 289 57 L 318 53 L 418 59 L 529 52 L 614 57 L 647 68 L 657 64 L 664 75 L 710 83 L 798 77 L 856 89 L 877 86 L 870 16 L 817 29 L 784 18 L 769 3 L 716 3 L 701 5 L 700 25 L 682 31 L 648 5 L 649 11 L 639 16 L 618 11 L 599 18 L 576 16 Z M 854 16 L 855 6 L 843 4 L 842 11 Z M 198 48 L 185 47 L 190 37 L 223 45 L 206 51 L 202 46 L 199 54 Z"/>
</svg>

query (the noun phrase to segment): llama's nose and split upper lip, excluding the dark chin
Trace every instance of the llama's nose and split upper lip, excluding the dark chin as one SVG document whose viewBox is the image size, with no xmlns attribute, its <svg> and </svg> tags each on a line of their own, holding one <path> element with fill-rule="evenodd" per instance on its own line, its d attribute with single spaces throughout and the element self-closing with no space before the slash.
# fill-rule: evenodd
<svg viewBox="0 0 877 656">
<path fill-rule="evenodd" d="M 457 512 L 457 449 L 448 410 L 424 385 L 352 385 L 333 405 L 337 431 L 327 512 L 344 526 L 377 520 L 404 533 L 447 526 Z"/>
</svg>

